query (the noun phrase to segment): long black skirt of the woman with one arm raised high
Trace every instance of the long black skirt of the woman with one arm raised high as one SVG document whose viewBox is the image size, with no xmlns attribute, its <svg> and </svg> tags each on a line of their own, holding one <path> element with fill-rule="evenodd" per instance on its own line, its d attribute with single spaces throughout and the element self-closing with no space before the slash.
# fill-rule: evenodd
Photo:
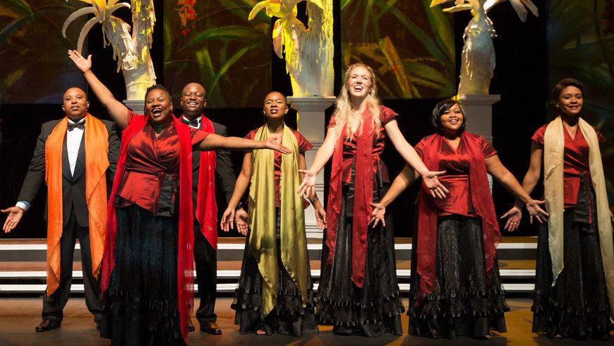
<svg viewBox="0 0 614 346">
<path fill-rule="evenodd" d="M 116 208 L 115 266 L 103 297 L 102 338 L 116 345 L 181 345 L 178 233 L 171 217 Z"/>
</svg>

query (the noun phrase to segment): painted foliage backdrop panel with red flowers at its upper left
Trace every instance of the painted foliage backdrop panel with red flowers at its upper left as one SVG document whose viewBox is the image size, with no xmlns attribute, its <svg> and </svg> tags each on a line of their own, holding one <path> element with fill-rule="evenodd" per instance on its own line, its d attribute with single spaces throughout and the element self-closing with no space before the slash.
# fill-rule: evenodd
<svg viewBox="0 0 614 346">
<path fill-rule="evenodd" d="M 202 84 L 210 107 L 260 106 L 270 90 L 270 18 L 252 0 L 164 1 L 164 85 Z M 277 56 L 275 56 L 277 59 Z"/>
</svg>

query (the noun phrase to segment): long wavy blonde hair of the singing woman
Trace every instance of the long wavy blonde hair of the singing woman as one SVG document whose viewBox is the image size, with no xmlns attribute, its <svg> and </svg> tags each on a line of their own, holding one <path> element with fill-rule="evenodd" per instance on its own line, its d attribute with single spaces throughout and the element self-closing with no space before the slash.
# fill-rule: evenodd
<svg viewBox="0 0 614 346">
<path fill-rule="evenodd" d="M 373 131 L 380 134 L 380 128 L 382 127 L 382 122 L 380 121 L 380 98 L 378 97 L 378 85 L 375 83 L 375 73 L 373 73 L 373 68 L 366 66 L 364 64 L 352 64 L 345 71 L 345 78 L 343 86 L 341 87 L 341 92 L 339 93 L 339 97 L 337 97 L 337 102 L 335 102 L 335 141 L 339 140 L 339 136 L 341 136 L 341 132 L 343 131 L 343 126 L 347 124 L 347 120 L 354 114 L 354 109 L 351 104 L 350 95 L 349 95 L 349 87 L 348 81 L 351 76 L 351 71 L 354 71 L 354 68 L 362 67 L 369 71 L 369 78 L 371 79 L 371 86 L 369 87 L 366 102 L 367 107 L 371 111 Z M 358 133 L 362 133 L 363 128 L 363 118 L 360 118 L 360 125 L 358 129 Z M 351 137 L 351 129 L 347 129 L 347 133 L 345 134 L 346 138 Z"/>
</svg>

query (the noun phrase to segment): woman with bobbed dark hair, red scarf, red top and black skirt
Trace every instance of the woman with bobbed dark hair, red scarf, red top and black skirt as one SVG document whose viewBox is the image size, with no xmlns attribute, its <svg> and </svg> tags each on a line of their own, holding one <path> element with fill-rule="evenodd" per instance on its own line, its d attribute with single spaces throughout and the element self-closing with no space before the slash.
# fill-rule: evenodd
<svg viewBox="0 0 614 346">
<path fill-rule="evenodd" d="M 414 229 L 409 294 L 409 333 L 456 339 L 460 335 L 490 338 L 489 330 L 506 331 L 505 303 L 495 247 L 501 238 L 486 173 L 518 196 L 531 214 L 543 213 L 495 149 L 481 136 L 467 133 L 464 111 L 455 100 L 433 109 L 437 133 L 423 138 L 416 152 L 450 191 L 435 200 L 422 186 L 418 227 Z M 373 220 L 384 221 L 385 207 L 418 174 L 405 167 L 382 201 Z M 505 216 L 505 215 L 504 215 Z"/>
</svg>

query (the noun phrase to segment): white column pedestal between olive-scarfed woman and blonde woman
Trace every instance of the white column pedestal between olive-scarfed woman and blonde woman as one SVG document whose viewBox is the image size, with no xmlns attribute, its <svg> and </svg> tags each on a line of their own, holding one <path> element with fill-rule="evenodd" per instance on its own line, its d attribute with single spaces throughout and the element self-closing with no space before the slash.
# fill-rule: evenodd
<svg viewBox="0 0 614 346">
<path fill-rule="evenodd" d="M 335 100 L 337 100 L 337 98 L 332 96 L 288 97 L 288 103 L 298 112 L 297 117 L 299 119 L 297 124 L 299 132 L 313 144 L 313 148 L 305 153 L 307 168 L 311 167 L 311 163 L 315 158 L 315 153 L 318 152 L 318 149 L 320 149 L 322 143 L 324 143 L 324 136 L 326 133 L 324 111 L 335 103 Z M 318 177 L 316 178 L 315 192 L 318 193 L 320 203 L 326 208 L 324 184 L 323 169 L 318 173 Z M 322 239 L 323 237 L 323 232 L 315 227 L 315 214 L 311 205 L 305 210 L 305 231 L 308 238 Z"/>
</svg>

